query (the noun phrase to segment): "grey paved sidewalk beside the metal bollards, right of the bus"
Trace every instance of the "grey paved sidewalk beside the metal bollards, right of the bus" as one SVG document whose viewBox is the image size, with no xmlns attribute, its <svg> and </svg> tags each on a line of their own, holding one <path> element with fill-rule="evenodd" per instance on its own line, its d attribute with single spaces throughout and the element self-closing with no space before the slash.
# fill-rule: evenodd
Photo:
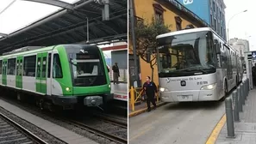
<svg viewBox="0 0 256 144">
<path fill-rule="evenodd" d="M 256 89 L 250 91 L 240 113 L 240 123 L 234 123 L 236 137 L 227 137 L 227 123 L 224 124 L 216 144 L 255 144 L 256 143 Z"/>
</svg>

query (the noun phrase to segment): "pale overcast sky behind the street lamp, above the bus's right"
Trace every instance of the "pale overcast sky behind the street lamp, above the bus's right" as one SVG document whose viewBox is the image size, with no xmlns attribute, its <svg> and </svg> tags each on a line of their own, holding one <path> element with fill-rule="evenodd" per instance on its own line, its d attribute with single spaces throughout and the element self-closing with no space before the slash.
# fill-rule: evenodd
<svg viewBox="0 0 256 144">
<path fill-rule="evenodd" d="M 250 43 L 250 51 L 256 51 L 256 21 L 255 14 L 256 9 L 255 0 L 224 0 L 227 8 L 226 12 L 226 27 L 228 30 L 228 21 L 230 18 L 247 10 L 245 13 L 240 13 L 234 16 L 229 21 L 229 39 L 239 38 L 247 39 Z"/>
</svg>

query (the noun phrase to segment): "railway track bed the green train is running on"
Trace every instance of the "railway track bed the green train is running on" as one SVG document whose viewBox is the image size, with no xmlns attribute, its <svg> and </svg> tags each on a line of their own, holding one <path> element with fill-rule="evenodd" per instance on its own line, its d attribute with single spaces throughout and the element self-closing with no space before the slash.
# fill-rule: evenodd
<svg viewBox="0 0 256 144">
<path fill-rule="evenodd" d="M 1 98 L 3 99 L 3 98 Z M 121 122 L 116 117 L 109 117 L 108 115 L 102 115 L 97 113 L 96 116 L 94 114 L 82 114 L 80 113 L 80 117 L 76 115 L 62 115 L 60 113 L 50 112 L 50 111 L 41 111 L 38 107 L 34 105 L 28 104 L 20 104 L 16 103 L 10 99 L 4 99 L 11 103 L 12 105 L 16 105 L 22 108 L 25 111 L 28 111 L 38 117 L 43 117 L 52 123 L 56 123 L 59 126 L 62 126 L 66 129 L 71 129 L 73 132 L 78 135 L 83 135 L 88 137 L 89 133 L 93 135 L 97 135 L 97 139 L 95 136 L 91 135 L 88 138 L 91 138 L 93 141 L 97 141 L 99 139 L 104 139 L 103 141 L 97 141 L 99 143 L 128 143 L 128 130 L 127 123 L 122 122 L 124 118 L 121 119 Z M 65 112 L 66 113 L 66 112 Z M 82 117 L 84 115 L 84 117 Z M 74 119 L 75 118 L 75 119 Z M 114 119 L 114 120 L 113 120 Z M 0 134 L 1 136 L 1 134 Z"/>
</svg>

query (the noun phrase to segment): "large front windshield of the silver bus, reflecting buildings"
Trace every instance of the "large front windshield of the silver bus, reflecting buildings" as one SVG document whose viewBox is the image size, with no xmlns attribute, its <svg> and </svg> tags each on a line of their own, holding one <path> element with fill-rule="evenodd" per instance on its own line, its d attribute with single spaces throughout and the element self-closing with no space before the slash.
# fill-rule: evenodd
<svg viewBox="0 0 256 144">
<path fill-rule="evenodd" d="M 211 32 L 184 33 L 157 40 L 160 77 L 215 72 Z"/>
</svg>

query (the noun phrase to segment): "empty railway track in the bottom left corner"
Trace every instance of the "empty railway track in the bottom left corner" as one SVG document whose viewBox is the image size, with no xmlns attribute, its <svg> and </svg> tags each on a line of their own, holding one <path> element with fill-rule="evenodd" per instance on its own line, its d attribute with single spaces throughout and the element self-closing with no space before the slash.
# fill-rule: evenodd
<svg viewBox="0 0 256 144">
<path fill-rule="evenodd" d="M 28 129 L 0 113 L 0 143 L 47 144 Z"/>
</svg>

